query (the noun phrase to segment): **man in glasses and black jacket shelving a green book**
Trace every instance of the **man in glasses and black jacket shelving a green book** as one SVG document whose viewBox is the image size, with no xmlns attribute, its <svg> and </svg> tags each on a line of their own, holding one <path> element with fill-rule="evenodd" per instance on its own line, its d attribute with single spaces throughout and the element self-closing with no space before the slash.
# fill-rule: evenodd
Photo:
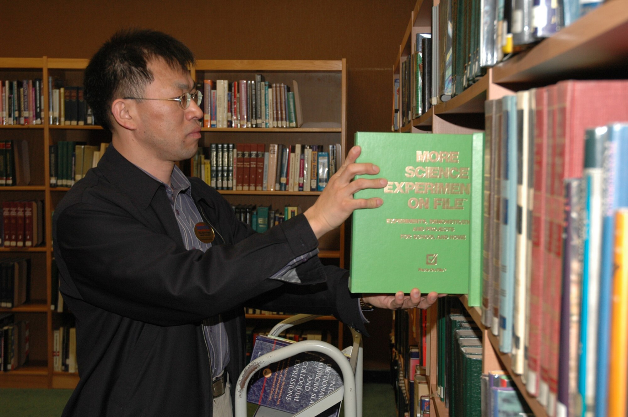
<svg viewBox="0 0 628 417">
<path fill-rule="evenodd" d="M 85 96 L 112 146 L 55 208 L 63 299 L 76 317 L 80 382 L 65 416 L 230 416 L 246 364 L 243 306 L 333 314 L 364 332 L 347 271 L 323 266 L 318 237 L 344 222 L 378 172 L 349 151 L 303 215 L 256 234 L 224 198 L 175 166 L 195 154 L 203 112 L 193 55 L 155 31 L 117 33 L 85 70 Z M 364 296 L 426 307 L 436 294 Z"/>
</svg>

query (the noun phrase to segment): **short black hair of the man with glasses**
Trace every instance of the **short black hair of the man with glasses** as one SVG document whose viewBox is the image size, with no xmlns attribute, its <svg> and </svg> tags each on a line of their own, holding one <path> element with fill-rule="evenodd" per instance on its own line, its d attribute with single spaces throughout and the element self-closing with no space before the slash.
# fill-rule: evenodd
<svg viewBox="0 0 628 417">
<path fill-rule="evenodd" d="M 162 58 L 173 69 L 187 71 L 195 62 L 190 49 L 165 33 L 131 29 L 116 32 L 85 68 L 85 100 L 95 121 L 112 130 L 111 103 L 121 97 L 141 97 L 153 82 L 148 62 Z"/>
</svg>

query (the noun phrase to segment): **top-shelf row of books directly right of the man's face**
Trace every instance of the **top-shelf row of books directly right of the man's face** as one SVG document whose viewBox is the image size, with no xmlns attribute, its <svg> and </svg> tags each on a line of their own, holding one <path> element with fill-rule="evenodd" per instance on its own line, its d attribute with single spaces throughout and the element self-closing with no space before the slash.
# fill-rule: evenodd
<svg viewBox="0 0 628 417">
<path fill-rule="evenodd" d="M 203 93 L 203 127 L 300 127 L 299 87 L 271 83 L 264 75 L 255 80 L 203 80 L 197 90 Z"/>
</svg>

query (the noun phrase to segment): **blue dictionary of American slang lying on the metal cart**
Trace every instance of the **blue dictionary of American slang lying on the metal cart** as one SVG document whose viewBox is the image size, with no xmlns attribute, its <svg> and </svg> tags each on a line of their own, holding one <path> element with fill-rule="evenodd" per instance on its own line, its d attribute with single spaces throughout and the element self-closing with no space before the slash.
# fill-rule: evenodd
<svg viewBox="0 0 628 417">
<path fill-rule="evenodd" d="M 257 336 L 251 360 L 292 343 L 282 338 Z M 256 372 L 249 382 L 246 399 L 249 403 L 296 414 L 341 387 L 341 375 L 329 357 L 303 352 Z M 334 406 L 319 416 L 335 416 L 335 411 Z"/>
</svg>

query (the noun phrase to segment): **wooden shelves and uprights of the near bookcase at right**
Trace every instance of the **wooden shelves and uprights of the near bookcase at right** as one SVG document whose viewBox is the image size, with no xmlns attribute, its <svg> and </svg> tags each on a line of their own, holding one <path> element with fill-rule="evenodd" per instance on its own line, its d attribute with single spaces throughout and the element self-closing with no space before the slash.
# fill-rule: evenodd
<svg viewBox="0 0 628 417">
<path fill-rule="evenodd" d="M 431 7 L 439 0 L 418 0 L 393 64 L 393 81 L 402 79 L 401 66 L 414 50 L 416 33 L 431 33 Z M 484 102 L 511 95 L 519 90 L 543 87 L 566 79 L 625 79 L 628 57 L 628 7 L 625 1 L 607 1 L 570 26 L 546 38 L 529 50 L 513 55 L 446 102 L 438 102 L 425 114 L 408 121 L 396 130 L 399 133 L 474 133 L 484 131 Z M 403 81 L 402 81 L 403 82 Z M 400 95 L 399 95 L 400 96 Z M 395 103 L 401 111 L 401 97 Z M 401 122 L 400 122 L 401 124 Z M 393 129 L 394 130 L 394 129 Z M 469 306 L 466 295 L 462 305 L 482 332 L 482 371 L 504 371 L 512 377 L 529 408 L 537 417 L 548 413 L 539 401 L 530 396 L 521 376 L 512 371 L 511 355 L 499 350 L 499 339 L 482 324 L 482 311 Z M 431 396 L 431 413 L 438 417 L 449 415 L 440 400 L 436 382 L 436 305 L 428 310 L 426 374 Z M 409 329 L 411 344 L 421 341 Z"/>
</svg>

